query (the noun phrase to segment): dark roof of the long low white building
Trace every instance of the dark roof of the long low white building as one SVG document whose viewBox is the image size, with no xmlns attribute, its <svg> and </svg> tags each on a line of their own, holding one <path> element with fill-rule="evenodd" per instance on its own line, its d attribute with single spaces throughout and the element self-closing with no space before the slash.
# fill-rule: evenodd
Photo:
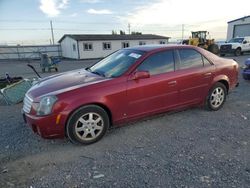
<svg viewBox="0 0 250 188">
<path fill-rule="evenodd" d="M 142 34 L 142 35 L 64 35 L 58 42 L 60 43 L 65 37 L 70 37 L 76 41 L 97 41 L 97 40 L 150 40 L 150 39 L 169 39 L 170 37 Z"/>
</svg>

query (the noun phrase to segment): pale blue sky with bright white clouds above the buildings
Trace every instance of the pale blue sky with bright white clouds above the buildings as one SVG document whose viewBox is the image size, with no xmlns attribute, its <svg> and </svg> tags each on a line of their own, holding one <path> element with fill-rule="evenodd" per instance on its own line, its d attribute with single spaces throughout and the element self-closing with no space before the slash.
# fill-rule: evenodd
<svg viewBox="0 0 250 188">
<path fill-rule="evenodd" d="M 249 0 L 0 0 L 0 45 L 50 44 L 64 34 L 138 31 L 182 39 L 207 30 L 224 40 L 227 22 L 250 15 Z M 130 27 L 128 26 L 130 25 Z"/>
</svg>

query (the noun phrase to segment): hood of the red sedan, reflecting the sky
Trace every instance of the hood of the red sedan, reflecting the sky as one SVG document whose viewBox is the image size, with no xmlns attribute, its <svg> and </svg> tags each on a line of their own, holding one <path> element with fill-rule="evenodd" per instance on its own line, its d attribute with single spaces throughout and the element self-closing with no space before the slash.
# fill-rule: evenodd
<svg viewBox="0 0 250 188">
<path fill-rule="evenodd" d="M 109 80 L 84 69 L 56 74 L 39 80 L 27 92 L 32 98 L 45 95 L 57 95 L 72 89 Z"/>
</svg>

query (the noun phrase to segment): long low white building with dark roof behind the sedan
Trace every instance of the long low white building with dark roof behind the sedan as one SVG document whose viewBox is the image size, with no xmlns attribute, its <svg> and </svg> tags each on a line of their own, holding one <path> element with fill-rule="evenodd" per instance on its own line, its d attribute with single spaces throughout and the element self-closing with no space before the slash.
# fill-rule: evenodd
<svg viewBox="0 0 250 188">
<path fill-rule="evenodd" d="M 121 48 L 167 44 L 169 37 L 159 35 L 64 35 L 61 44 L 62 57 L 71 59 L 102 58 Z"/>
</svg>

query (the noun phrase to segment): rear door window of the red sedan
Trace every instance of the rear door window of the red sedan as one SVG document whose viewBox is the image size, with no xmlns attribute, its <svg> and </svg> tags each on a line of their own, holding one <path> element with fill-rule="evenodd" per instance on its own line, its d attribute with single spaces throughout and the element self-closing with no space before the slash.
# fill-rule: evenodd
<svg viewBox="0 0 250 188">
<path fill-rule="evenodd" d="M 193 49 L 181 49 L 180 54 L 180 69 L 188 69 L 193 67 L 202 67 L 203 61 L 200 53 Z"/>
</svg>

